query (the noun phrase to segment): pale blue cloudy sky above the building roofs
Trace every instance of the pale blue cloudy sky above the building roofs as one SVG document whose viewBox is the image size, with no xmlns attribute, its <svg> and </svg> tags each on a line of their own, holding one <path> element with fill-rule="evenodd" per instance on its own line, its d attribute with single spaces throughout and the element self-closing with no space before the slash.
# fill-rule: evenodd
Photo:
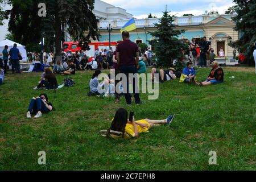
<svg viewBox="0 0 256 182">
<path fill-rule="evenodd" d="M 205 10 L 217 10 L 224 14 L 234 3 L 232 0 L 102 0 L 114 6 L 122 7 L 127 13 L 133 14 L 135 18 L 146 18 L 149 13 L 162 16 L 166 9 L 177 16 L 183 14 L 201 15 Z"/>
</svg>

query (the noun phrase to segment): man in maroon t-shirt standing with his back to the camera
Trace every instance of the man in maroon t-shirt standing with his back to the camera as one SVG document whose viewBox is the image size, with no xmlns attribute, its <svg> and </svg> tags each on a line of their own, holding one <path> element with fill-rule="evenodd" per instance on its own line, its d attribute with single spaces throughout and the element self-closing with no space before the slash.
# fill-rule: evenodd
<svg viewBox="0 0 256 182">
<path fill-rule="evenodd" d="M 137 44 L 131 42 L 129 32 L 123 31 L 122 38 L 123 42 L 117 46 L 116 59 L 118 61 L 121 73 L 125 74 L 127 78 L 126 86 L 124 86 L 124 92 L 126 103 L 128 106 L 130 106 L 131 95 L 129 93 L 129 74 L 137 73 L 137 65 L 139 63 L 139 49 Z M 138 85 L 135 82 L 135 78 L 133 78 L 131 81 L 133 82 L 135 104 L 140 105 L 141 99 L 139 98 L 139 93 L 136 93 L 138 92 Z"/>
</svg>

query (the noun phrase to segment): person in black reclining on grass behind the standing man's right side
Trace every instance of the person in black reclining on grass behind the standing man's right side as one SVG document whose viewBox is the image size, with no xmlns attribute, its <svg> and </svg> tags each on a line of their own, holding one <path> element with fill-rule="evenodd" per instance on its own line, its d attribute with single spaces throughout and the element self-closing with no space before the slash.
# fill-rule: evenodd
<svg viewBox="0 0 256 182">
<path fill-rule="evenodd" d="M 180 72 L 176 72 L 176 69 L 170 68 L 167 70 L 160 69 L 158 72 L 156 68 L 152 68 L 151 70 L 152 74 L 152 82 L 155 81 L 155 74 L 159 74 L 159 81 L 164 82 L 164 81 L 170 81 L 170 80 L 176 80 L 176 78 L 180 77 Z"/>
</svg>

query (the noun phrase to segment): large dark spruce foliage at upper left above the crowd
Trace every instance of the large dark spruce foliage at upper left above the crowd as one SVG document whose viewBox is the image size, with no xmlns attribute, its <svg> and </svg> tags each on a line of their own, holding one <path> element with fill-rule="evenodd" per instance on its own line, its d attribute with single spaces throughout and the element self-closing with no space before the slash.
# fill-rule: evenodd
<svg viewBox="0 0 256 182">
<path fill-rule="evenodd" d="M 46 17 L 38 15 L 39 3 L 45 3 Z M 13 7 L 9 31 L 15 39 L 25 45 L 39 44 L 44 35 L 47 47 L 55 43 L 56 58 L 61 57 L 64 27 L 83 49 L 89 49 L 90 38 L 98 39 L 98 20 L 92 13 L 94 0 L 9 0 L 9 4 Z"/>
</svg>

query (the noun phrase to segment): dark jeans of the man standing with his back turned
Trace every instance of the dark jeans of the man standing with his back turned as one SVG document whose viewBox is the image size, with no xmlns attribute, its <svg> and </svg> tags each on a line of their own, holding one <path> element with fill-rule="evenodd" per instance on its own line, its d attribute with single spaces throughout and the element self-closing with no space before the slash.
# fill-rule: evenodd
<svg viewBox="0 0 256 182">
<path fill-rule="evenodd" d="M 127 88 L 125 90 L 125 86 L 124 88 L 124 92 L 125 92 L 125 99 L 126 99 L 126 103 L 127 104 L 131 104 L 131 94 L 129 93 L 129 74 L 135 74 L 137 73 L 137 68 L 135 67 L 135 65 L 121 65 L 120 67 L 120 71 L 121 73 L 126 75 L 127 78 Z M 138 85 L 135 84 L 135 78 L 133 78 L 133 94 L 134 94 L 134 98 L 135 98 L 135 103 L 136 104 L 140 104 L 141 99 L 139 98 L 139 93 L 135 93 L 135 90 L 138 91 Z"/>
</svg>

